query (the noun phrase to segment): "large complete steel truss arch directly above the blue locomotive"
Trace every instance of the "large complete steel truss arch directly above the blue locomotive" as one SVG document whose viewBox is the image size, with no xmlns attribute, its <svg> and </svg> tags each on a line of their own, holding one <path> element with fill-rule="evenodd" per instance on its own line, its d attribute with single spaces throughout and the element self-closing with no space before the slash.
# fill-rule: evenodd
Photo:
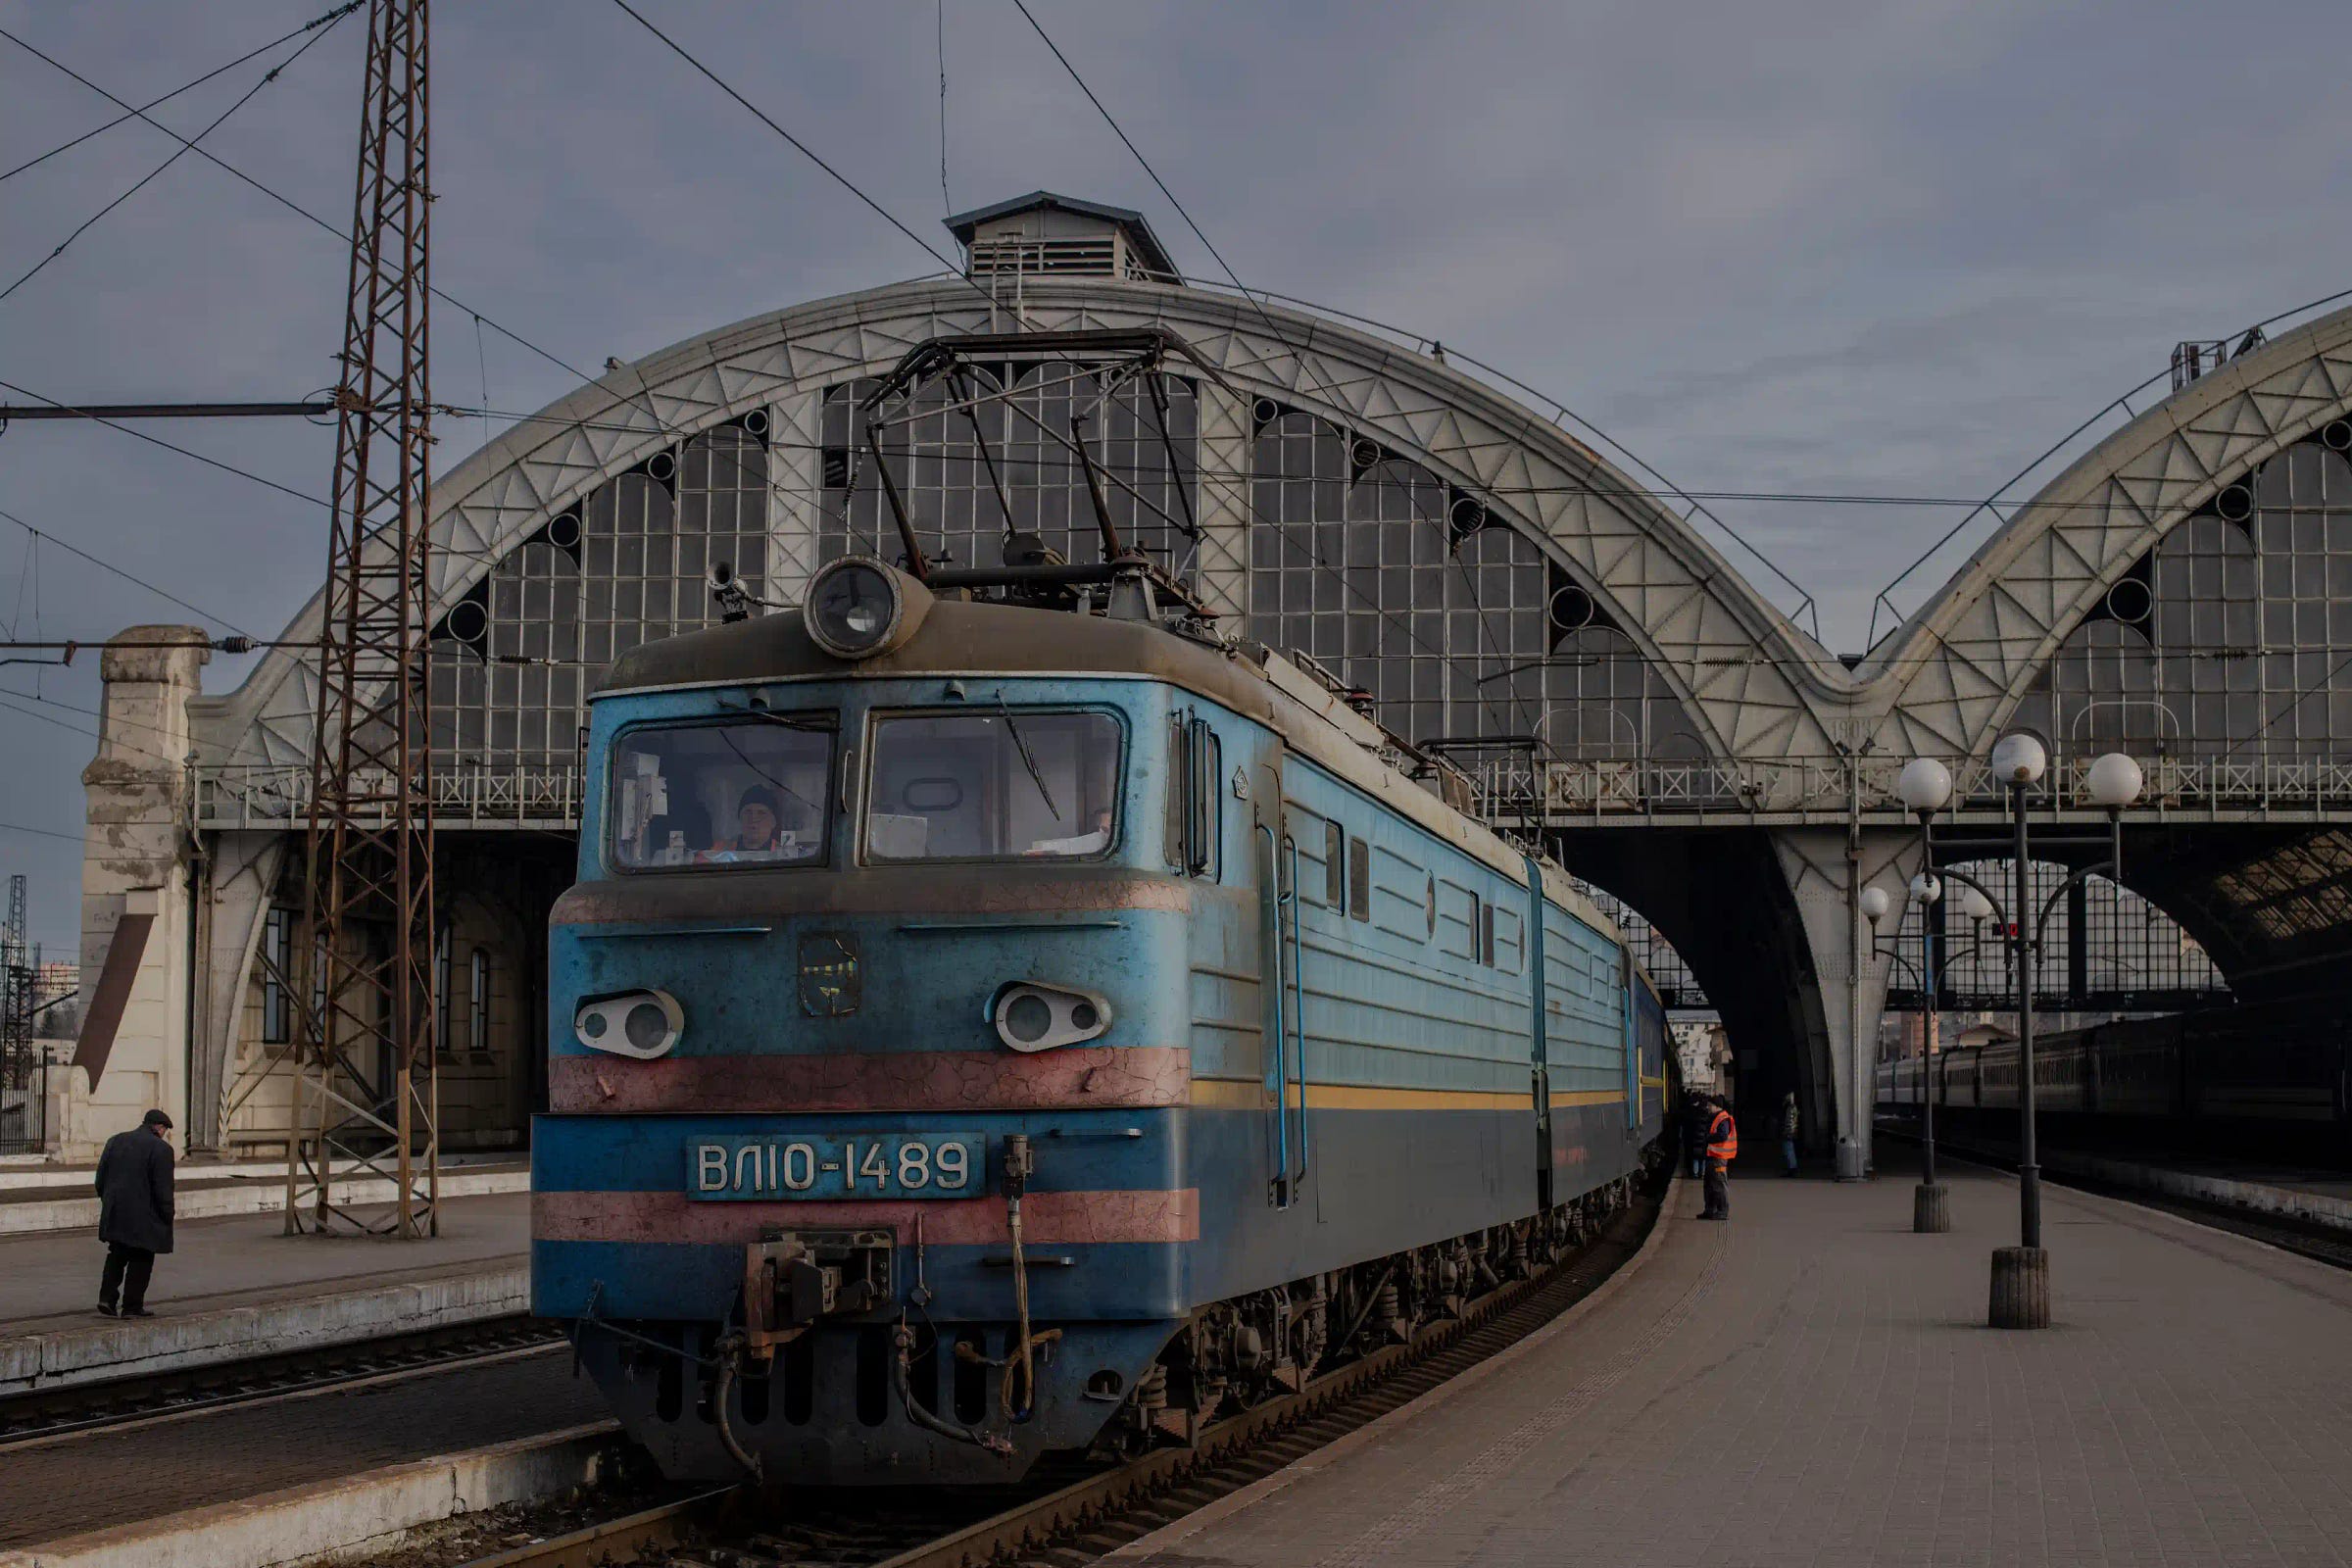
<svg viewBox="0 0 2352 1568">
<path fill-rule="evenodd" d="M 435 482 L 433 614 L 445 616 L 600 484 L 755 409 L 884 374 L 938 336 L 1138 327 L 1176 331 L 1244 397 L 1242 428 L 1228 433 L 1240 435 L 1244 454 L 1247 400 L 1272 397 L 1477 496 L 1609 607 L 1722 762 L 1832 750 L 1825 715 L 1842 708 L 1844 670 L 1677 512 L 1590 447 L 1486 383 L 1374 334 L 1164 284 L 1030 280 L 1018 320 L 1009 301 L 990 303 L 964 282 L 891 284 L 750 317 L 621 364 L 517 421 Z M 809 442 L 814 433 L 779 428 L 779 437 Z M 1204 451 L 1211 437 L 1204 418 Z M 1242 517 L 1247 480 L 1202 465 L 1202 489 L 1237 491 Z M 776 491 L 769 508 L 793 503 Z M 1209 550 L 1202 569 L 1218 569 Z M 285 642 L 310 639 L 318 625 L 313 599 Z M 240 689 L 202 698 L 200 764 L 252 769 L 306 757 L 313 682 L 296 649 L 273 649 Z"/>
</svg>

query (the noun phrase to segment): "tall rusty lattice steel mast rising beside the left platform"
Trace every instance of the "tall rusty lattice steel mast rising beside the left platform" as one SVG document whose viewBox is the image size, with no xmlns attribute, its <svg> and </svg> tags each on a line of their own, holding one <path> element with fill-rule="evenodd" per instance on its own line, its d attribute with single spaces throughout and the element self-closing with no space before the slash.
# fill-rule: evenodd
<svg viewBox="0 0 2352 1568">
<path fill-rule="evenodd" d="M 426 538 L 426 0 L 372 0 L 336 388 L 287 1229 L 440 1229 Z M 390 1215 L 336 1201 L 390 1175 Z"/>
</svg>

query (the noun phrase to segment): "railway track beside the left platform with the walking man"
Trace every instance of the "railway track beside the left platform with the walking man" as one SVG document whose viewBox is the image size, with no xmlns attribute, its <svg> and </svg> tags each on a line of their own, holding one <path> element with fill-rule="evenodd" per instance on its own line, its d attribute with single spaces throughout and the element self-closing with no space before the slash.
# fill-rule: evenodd
<svg viewBox="0 0 2352 1568">
<path fill-rule="evenodd" d="M 529 1354 L 562 1345 L 562 1338 L 555 1324 L 517 1312 L 376 1340 L 7 1394 L 0 1396 L 0 1453 L 165 1415 L 193 1415 Z"/>
</svg>

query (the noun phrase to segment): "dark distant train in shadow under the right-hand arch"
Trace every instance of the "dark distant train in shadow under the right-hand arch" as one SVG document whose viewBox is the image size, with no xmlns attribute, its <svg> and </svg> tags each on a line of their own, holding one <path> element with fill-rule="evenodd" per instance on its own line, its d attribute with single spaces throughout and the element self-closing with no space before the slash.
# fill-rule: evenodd
<svg viewBox="0 0 2352 1568">
<path fill-rule="evenodd" d="M 2126 1018 L 2034 1039 L 2034 1119 L 2077 1143 L 2352 1161 L 2352 1009 L 2331 997 Z M 2018 1110 L 2018 1046 L 1879 1063 L 1879 1112 L 1994 1126 Z"/>
</svg>

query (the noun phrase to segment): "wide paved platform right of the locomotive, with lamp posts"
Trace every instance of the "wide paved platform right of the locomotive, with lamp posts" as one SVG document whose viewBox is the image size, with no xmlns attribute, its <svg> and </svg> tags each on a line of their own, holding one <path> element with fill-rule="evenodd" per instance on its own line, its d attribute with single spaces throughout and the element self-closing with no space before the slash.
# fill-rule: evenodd
<svg viewBox="0 0 2352 1568">
<path fill-rule="evenodd" d="M 2044 1185 L 2053 1326 L 1985 1328 L 2013 1178 L 1910 1229 L 1872 1182 L 1696 1182 L 1616 1288 L 1115 1556 L 1437 1563 L 2343 1563 L 2352 1274 Z"/>
</svg>

